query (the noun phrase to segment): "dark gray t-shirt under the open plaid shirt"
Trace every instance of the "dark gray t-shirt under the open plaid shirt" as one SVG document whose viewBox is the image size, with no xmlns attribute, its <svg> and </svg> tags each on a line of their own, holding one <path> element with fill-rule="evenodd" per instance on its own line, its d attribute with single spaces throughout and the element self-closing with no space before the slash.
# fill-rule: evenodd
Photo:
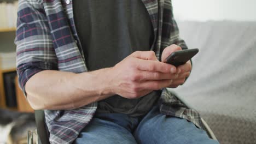
<svg viewBox="0 0 256 144">
<path fill-rule="evenodd" d="M 149 51 L 153 27 L 142 1 L 73 1 L 74 21 L 88 70 L 113 67 L 134 51 Z M 113 95 L 98 102 L 98 113 L 146 114 L 159 98 L 152 92 L 138 99 Z"/>
</svg>

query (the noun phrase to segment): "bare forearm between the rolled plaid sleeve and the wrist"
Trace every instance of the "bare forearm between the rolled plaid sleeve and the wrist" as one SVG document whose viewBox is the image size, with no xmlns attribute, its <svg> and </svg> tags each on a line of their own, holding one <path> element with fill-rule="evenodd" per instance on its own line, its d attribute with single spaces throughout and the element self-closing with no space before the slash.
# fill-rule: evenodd
<svg viewBox="0 0 256 144">
<path fill-rule="evenodd" d="M 44 70 L 26 83 L 33 109 L 75 109 L 113 95 L 108 82 L 110 68 L 80 74 Z"/>
</svg>

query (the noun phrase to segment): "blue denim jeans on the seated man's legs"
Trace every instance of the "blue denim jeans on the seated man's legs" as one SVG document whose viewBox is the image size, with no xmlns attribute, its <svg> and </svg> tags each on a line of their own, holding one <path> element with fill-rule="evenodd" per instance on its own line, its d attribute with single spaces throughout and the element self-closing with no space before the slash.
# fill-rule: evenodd
<svg viewBox="0 0 256 144">
<path fill-rule="evenodd" d="M 74 143 L 216 144 L 205 131 L 185 119 L 162 115 L 158 106 L 144 117 L 97 113 Z"/>
</svg>

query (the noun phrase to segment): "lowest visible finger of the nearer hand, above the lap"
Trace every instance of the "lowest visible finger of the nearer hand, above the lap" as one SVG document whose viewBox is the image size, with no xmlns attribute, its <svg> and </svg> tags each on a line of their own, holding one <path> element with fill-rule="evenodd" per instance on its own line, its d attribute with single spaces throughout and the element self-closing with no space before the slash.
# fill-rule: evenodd
<svg viewBox="0 0 256 144">
<path fill-rule="evenodd" d="M 172 80 L 149 80 L 141 83 L 140 87 L 141 89 L 148 89 L 154 91 L 170 86 L 171 83 Z"/>
</svg>

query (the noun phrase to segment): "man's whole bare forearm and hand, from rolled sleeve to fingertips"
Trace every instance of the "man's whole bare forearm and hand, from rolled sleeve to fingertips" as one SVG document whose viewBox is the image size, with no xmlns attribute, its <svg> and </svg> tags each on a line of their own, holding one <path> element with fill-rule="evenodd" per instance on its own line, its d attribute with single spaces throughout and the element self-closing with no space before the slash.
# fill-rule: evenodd
<svg viewBox="0 0 256 144">
<path fill-rule="evenodd" d="M 26 83 L 35 110 L 69 110 L 114 94 L 139 98 L 179 79 L 173 65 L 159 62 L 153 51 L 136 51 L 112 68 L 85 73 L 43 70 Z M 183 76 L 184 77 L 184 76 Z"/>
</svg>

